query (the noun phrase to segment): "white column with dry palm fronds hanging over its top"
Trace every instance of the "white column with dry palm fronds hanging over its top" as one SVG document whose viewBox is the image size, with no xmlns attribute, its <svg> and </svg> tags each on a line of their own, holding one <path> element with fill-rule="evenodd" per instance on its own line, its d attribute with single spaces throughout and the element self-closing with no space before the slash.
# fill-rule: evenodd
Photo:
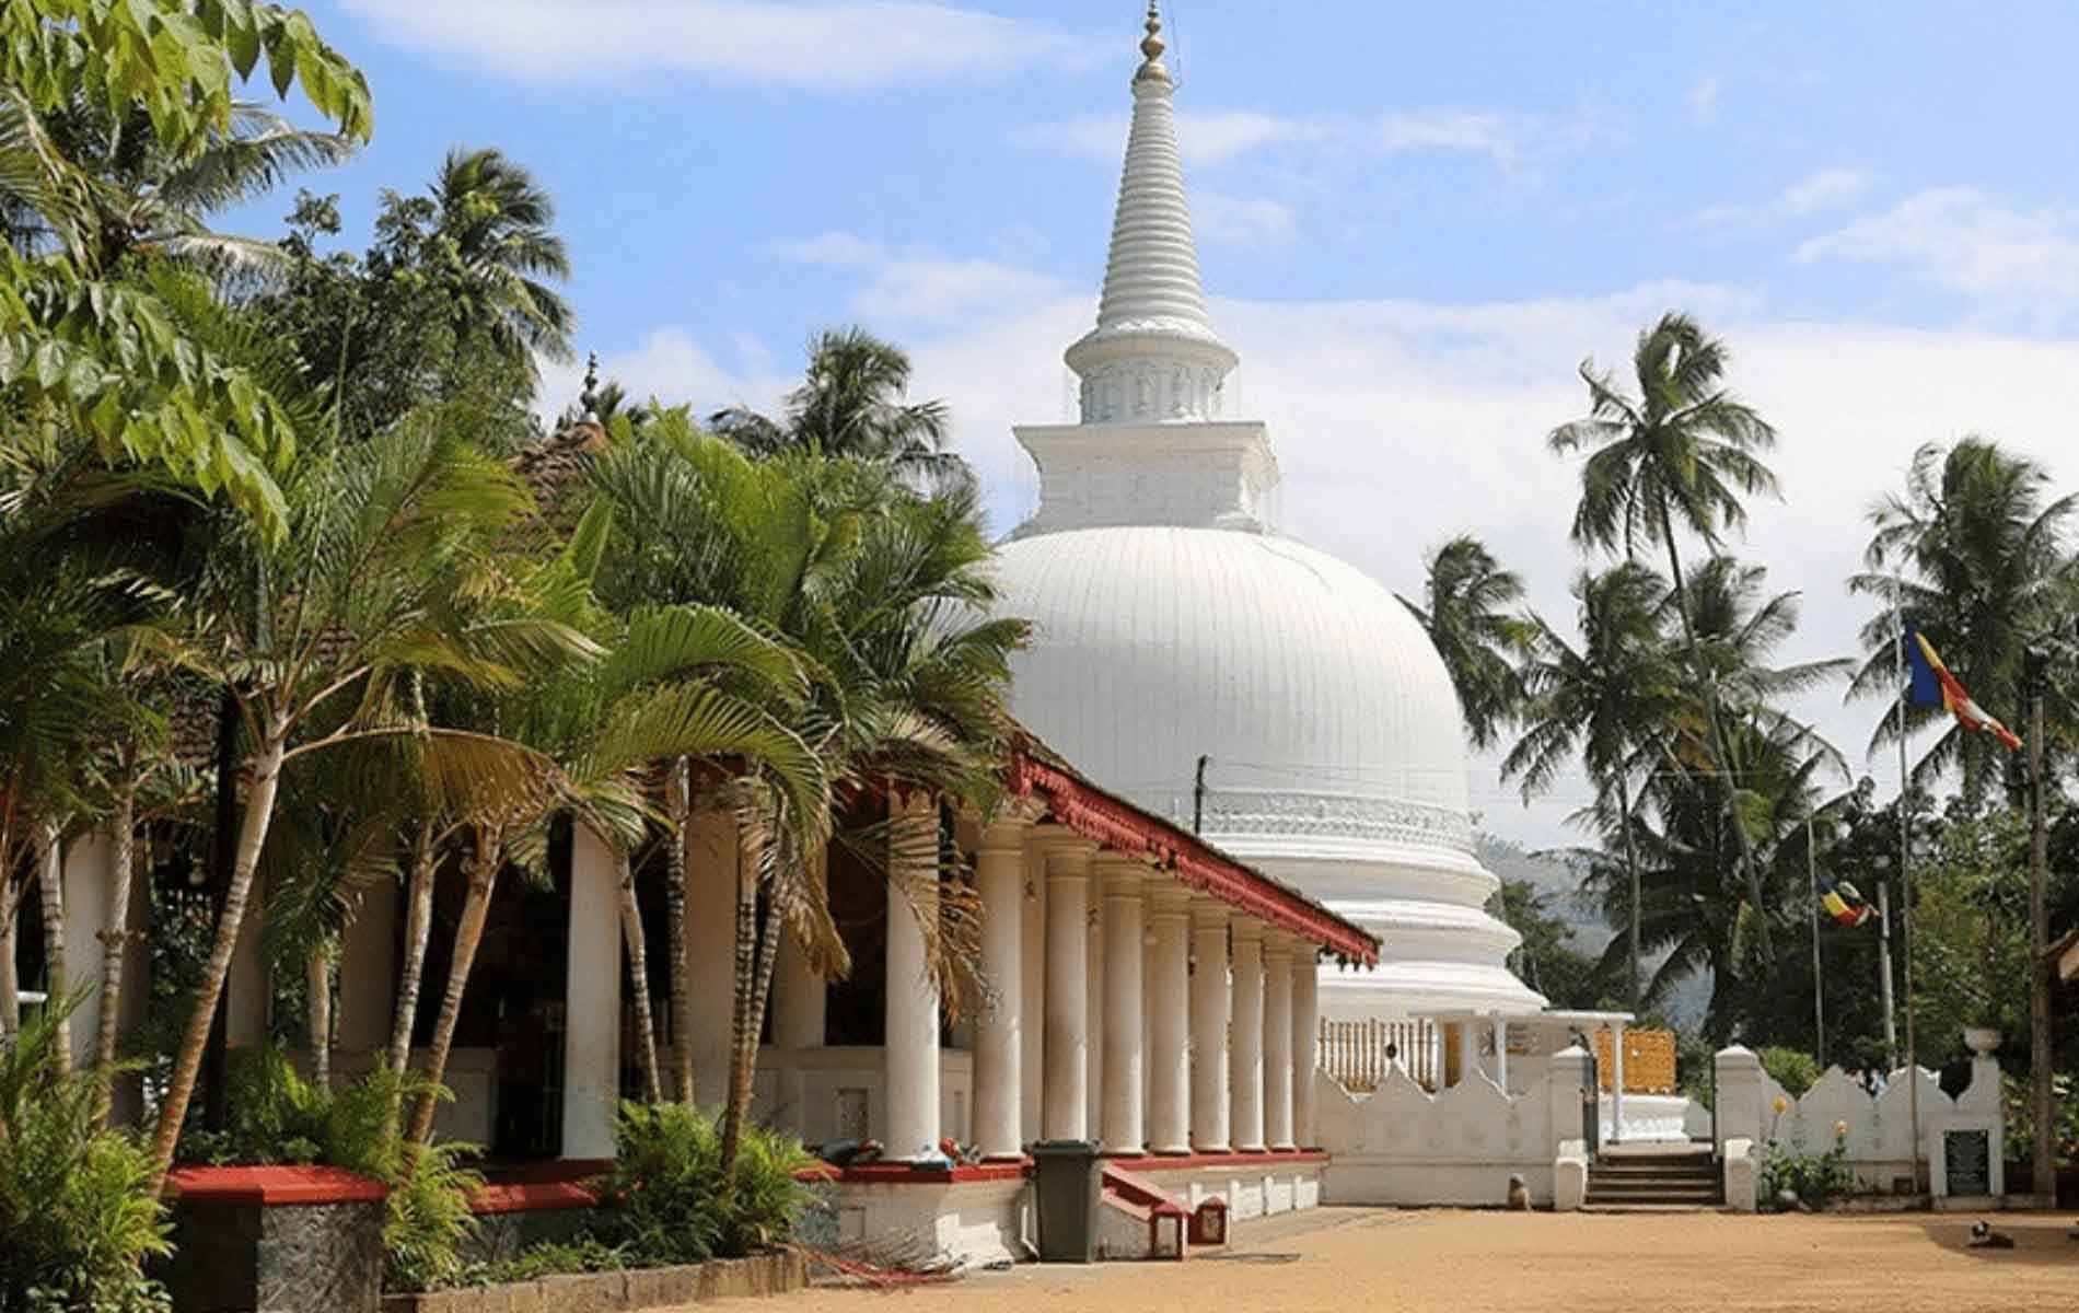
<svg viewBox="0 0 2079 1313">
<path fill-rule="evenodd" d="M 938 916 L 938 802 L 927 794 L 892 804 L 888 839 L 888 1157 L 938 1153 L 938 981 L 921 916 Z M 904 897 L 896 885 L 909 889 Z"/>
</svg>

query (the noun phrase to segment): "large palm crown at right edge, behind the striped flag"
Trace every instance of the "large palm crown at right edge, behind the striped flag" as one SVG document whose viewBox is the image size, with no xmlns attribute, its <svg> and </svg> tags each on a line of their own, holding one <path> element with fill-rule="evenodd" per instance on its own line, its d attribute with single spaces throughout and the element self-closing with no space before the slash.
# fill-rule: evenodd
<svg viewBox="0 0 2079 1313">
<path fill-rule="evenodd" d="M 1850 592 L 1884 602 L 1863 625 L 1869 657 L 1848 696 L 1894 690 L 1894 644 L 1902 623 L 1913 621 L 1979 704 L 2019 715 L 2029 642 L 2079 613 L 2079 559 L 2067 548 L 2079 494 L 2048 492 L 2048 470 L 1985 438 L 1948 449 L 1929 443 L 1915 453 L 1904 497 L 1888 494 L 1869 511 L 1875 532 L 1863 555 L 1867 571 L 1848 582 Z M 1925 785 L 1960 769 L 1965 792 L 1983 796 L 1985 781 L 1998 777 L 1992 746 L 1940 706 L 1917 706 L 1904 690 L 1894 698 L 1904 702 L 1906 733 L 1931 721 L 1944 725 L 1913 767 L 1915 781 Z M 2050 711 L 2064 723 L 2075 719 L 2069 702 L 2054 700 Z M 1898 731 L 1894 702 L 1877 721 L 1871 752 L 1896 742 Z"/>
</svg>

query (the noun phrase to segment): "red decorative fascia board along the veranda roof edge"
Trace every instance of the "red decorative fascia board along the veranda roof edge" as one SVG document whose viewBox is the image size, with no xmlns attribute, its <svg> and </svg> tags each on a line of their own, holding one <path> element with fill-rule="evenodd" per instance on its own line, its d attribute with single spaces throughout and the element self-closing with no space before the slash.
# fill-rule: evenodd
<svg viewBox="0 0 2079 1313">
<path fill-rule="evenodd" d="M 1027 746 L 1012 746 L 1008 787 L 1019 798 L 1040 796 L 1054 821 L 1121 852 L 1152 854 L 1177 879 L 1283 931 L 1318 943 L 1345 962 L 1378 964 L 1378 939 L 1295 889 L 1252 870 L 1141 808 L 1106 794 L 1075 771 L 1042 760 Z"/>
</svg>

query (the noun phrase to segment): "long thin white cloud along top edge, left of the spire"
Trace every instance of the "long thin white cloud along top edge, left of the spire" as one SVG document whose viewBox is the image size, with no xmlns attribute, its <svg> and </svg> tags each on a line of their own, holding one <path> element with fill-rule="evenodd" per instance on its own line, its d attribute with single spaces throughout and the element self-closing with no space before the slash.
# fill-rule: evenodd
<svg viewBox="0 0 2079 1313">
<path fill-rule="evenodd" d="M 343 0 L 399 46 L 516 77 L 647 69 L 807 87 L 873 87 L 1091 56 L 1048 23 L 929 0 Z"/>
</svg>

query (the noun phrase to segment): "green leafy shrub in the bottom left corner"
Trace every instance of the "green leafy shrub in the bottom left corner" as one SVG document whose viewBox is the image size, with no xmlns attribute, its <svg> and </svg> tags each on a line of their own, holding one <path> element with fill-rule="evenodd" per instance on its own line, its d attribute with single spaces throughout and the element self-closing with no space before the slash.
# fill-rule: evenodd
<svg viewBox="0 0 2079 1313">
<path fill-rule="evenodd" d="M 58 1076 L 54 1001 L 0 1041 L 0 1313 L 148 1313 L 166 1292 L 143 1276 L 170 1253 L 152 1159 L 94 1111 L 100 1076 Z"/>
</svg>

